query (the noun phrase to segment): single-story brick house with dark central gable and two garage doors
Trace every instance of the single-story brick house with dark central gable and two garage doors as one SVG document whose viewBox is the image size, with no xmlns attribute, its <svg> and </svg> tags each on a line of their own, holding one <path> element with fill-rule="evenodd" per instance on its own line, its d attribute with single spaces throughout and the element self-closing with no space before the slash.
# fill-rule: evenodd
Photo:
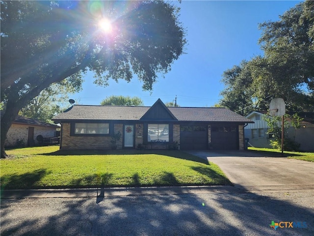
<svg viewBox="0 0 314 236">
<path fill-rule="evenodd" d="M 74 105 L 52 118 L 61 124 L 60 149 L 117 148 L 243 149 L 244 125 L 252 122 L 226 108 Z"/>
</svg>

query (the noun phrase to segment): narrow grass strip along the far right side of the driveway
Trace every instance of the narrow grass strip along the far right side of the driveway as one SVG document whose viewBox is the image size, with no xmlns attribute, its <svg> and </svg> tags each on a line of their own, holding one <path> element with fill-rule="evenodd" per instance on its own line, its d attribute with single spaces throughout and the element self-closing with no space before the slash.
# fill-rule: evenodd
<svg viewBox="0 0 314 236">
<path fill-rule="evenodd" d="M 270 155 L 281 154 L 281 150 L 271 148 L 252 148 L 248 147 L 249 150 L 262 151 Z M 297 151 L 284 151 L 284 155 L 290 159 L 297 159 L 303 161 L 314 162 L 314 152 L 297 152 Z"/>
</svg>

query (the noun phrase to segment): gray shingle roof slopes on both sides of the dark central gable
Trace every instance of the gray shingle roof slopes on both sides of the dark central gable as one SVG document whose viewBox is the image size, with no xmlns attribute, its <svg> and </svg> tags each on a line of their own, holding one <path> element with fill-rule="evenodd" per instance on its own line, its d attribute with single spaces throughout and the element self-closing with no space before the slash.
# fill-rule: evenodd
<svg viewBox="0 0 314 236">
<path fill-rule="evenodd" d="M 52 120 L 139 120 L 150 107 L 74 105 Z M 226 108 L 168 107 L 179 121 L 252 122 Z"/>
</svg>

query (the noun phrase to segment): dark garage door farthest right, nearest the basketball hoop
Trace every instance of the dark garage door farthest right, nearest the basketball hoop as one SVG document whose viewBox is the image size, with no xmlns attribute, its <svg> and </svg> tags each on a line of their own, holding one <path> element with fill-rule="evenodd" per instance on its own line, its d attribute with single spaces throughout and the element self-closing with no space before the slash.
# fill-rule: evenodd
<svg viewBox="0 0 314 236">
<path fill-rule="evenodd" d="M 215 150 L 238 149 L 237 126 L 212 126 L 211 145 Z"/>
</svg>

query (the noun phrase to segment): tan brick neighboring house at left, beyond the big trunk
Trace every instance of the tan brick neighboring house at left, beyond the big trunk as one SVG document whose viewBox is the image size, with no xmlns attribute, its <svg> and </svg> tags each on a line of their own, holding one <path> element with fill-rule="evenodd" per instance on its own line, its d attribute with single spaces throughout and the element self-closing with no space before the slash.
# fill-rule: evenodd
<svg viewBox="0 0 314 236">
<path fill-rule="evenodd" d="M 1 117 L 2 117 L 1 111 Z M 12 123 L 5 140 L 5 147 L 17 146 L 34 146 L 38 145 L 36 137 L 38 135 L 44 138 L 54 137 L 56 128 L 55 124 L 18 116 Z"/>
</svg>

